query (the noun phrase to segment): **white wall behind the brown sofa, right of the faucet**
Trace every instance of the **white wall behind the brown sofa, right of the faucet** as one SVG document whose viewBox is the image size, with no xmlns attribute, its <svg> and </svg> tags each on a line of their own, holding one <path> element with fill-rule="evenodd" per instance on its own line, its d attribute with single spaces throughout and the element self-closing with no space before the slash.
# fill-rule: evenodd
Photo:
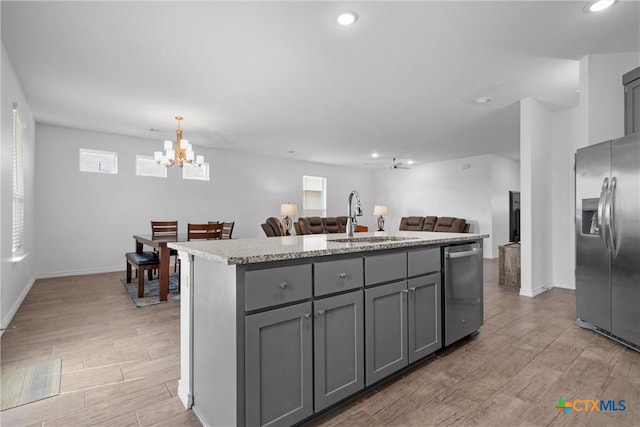
<svg viewBox="0 0 640 427">
<path fill-rule="evenodd" d="M 492 258 L 498 255 L 498 246 L 508 242 L 508 190 L 519 187 L 517 162 L 483 155 L 409 170 L 377 170 L 375 203 L 389 206 L 387 230 L 397 230 L 403 216 L 465 218 L 471 232 L 491 236 L 484 241 L 484 256 Z M 501 198 L 507 201 L 502 203 Z"/>
</svg>

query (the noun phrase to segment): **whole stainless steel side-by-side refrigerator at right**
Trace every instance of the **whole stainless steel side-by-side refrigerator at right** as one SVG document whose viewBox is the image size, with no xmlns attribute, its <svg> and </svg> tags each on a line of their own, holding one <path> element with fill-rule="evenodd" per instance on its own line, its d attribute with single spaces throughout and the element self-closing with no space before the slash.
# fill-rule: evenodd
<svg viewBox="0 0 640 427">
<path fill-rule="evenodd" d="M 640 346 L 640 133 L 576 153 L 578 323 Z"/>
</svg>

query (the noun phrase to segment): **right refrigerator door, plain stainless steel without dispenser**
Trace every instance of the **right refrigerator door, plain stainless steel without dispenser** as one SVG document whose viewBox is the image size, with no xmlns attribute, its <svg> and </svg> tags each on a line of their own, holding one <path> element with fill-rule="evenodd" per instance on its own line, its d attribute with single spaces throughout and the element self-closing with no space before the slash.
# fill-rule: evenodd
<svg viewBox="0 0 640 427">
<path fill-rule="evenodd" d="M 611 145 L 611 332 L 640 345 L 640 134 Z"/>
</svg>

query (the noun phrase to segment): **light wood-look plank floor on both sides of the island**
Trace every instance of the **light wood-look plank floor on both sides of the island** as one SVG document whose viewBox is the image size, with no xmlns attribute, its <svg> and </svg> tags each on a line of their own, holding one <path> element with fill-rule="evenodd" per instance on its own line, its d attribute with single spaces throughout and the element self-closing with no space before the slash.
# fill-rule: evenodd
<svg viewBox="0 0 640 427">
<path fill-rule="evenodd" d="M 638 426 L 640 354 L 575 324 L 575 293 L 497 285 L 485 261 L 485 325 L 314 426 Z M 10 426 L 199 426 L 176 396 L 179 305 L 136 308 L 124 273 L 38 280 L 1 339 L 2 371 L 62 358 L 59 396 L 0 413 Z M 555 409 L 560 397 L 624 412 Z"/>
</svg>

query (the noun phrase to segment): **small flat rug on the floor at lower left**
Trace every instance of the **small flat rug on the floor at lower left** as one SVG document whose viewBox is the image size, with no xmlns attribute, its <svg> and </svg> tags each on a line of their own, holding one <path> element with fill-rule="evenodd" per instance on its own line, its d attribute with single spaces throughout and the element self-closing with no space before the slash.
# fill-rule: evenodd
<svg viewBox="0 0 640 427">
<path fill-rule="evenodd" d="M 2 372 L 2 408 L 15 408 L 60 394 L 62 359 Z"/>
</svg>

